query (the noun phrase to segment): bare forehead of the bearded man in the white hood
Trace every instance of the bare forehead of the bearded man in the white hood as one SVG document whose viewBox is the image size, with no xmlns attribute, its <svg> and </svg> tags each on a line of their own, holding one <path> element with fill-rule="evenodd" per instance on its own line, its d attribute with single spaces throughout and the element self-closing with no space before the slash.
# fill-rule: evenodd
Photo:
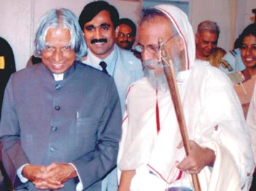
<svg viewBox="0 0 256 191">
<path fill-rule="evenodd" d="M 155 17 L 139 25 L 137 41 L 141 44 L 157 44 L 159 37 L 168 39 L 173 34 L 173 25 L 164 17 Z"/>
</svg>

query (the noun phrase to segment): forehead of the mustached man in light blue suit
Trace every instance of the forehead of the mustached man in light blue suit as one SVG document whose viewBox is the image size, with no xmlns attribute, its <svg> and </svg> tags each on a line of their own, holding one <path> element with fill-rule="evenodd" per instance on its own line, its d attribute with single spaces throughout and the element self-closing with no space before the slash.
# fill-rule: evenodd
<svg viewBox="0 0 256 191">
<path fill-rule="evenodd" d="M 106 10 L 98 12 L 98 14 L 93 17 L 92 20 L 90 20 L 88 23 L 85 23 L 85 26 L 100 26 L 103 23 L 107 23 L 110 26 L 113 26 L 110 13 Z"/>
</svg>

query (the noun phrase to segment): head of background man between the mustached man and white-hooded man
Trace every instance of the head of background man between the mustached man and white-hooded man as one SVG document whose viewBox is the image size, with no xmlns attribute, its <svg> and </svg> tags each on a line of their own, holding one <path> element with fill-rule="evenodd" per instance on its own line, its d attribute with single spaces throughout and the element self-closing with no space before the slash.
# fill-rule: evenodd
<svg viewBox="0 0 256 191">
<path fill-rule="evenodd" d="M 120 48 L 131 50 L 136 39 L 136 25 L 131 19 L 121 18 L 116 30 L 116 43 Z"/>
</svg>

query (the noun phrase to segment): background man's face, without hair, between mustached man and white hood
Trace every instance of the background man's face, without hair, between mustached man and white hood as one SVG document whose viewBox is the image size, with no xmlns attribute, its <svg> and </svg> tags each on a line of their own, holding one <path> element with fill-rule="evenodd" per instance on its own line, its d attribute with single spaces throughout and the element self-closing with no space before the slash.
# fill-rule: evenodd
<svg viewBox="0 0 256 191">
<path fill-rule="evenodd" d="M 130 26 L 121 24 L 117 27 L 116 43 L 120 48 L 131 50 L 134 41 L 135 36 Z"/>
</svg>

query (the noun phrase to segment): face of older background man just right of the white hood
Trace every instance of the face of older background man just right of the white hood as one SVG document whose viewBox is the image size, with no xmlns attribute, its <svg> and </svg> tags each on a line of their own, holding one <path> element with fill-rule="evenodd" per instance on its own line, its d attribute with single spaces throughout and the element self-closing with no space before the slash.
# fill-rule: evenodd
<svg viewBox="0 0 256 191">
<path fill-rule="evenodd" d="M 195 36 L 196 54 L 200 57 L 207 57 L 217 47 L 217 33 L 212 31 L 201 31 Z"/>
</svg>

